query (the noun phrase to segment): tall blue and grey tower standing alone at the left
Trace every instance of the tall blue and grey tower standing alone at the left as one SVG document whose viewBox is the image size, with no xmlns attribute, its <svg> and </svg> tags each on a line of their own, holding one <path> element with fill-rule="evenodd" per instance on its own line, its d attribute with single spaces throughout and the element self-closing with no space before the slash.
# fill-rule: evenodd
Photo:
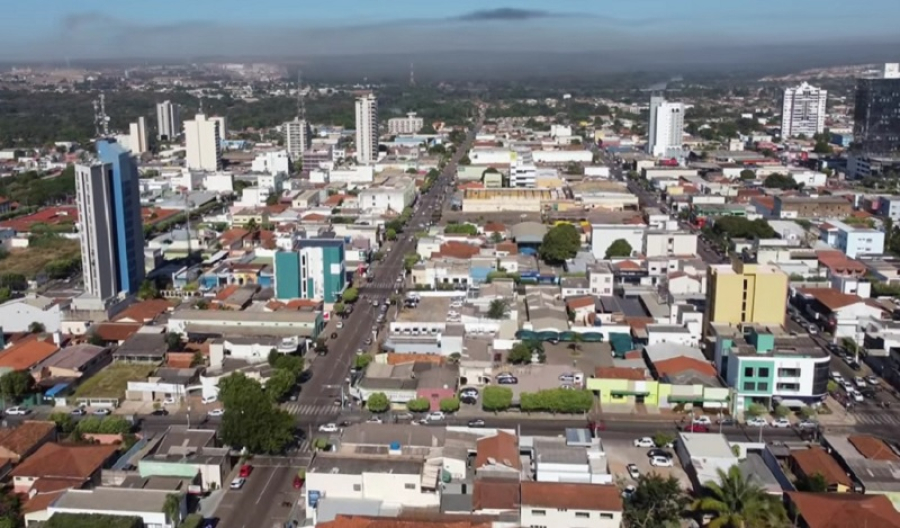
<svg viewBox="0 0 900 528">
<path fill-rule="evenodd" d="M 97 141 L 97 156 L 75 166 L 75 195 L 85 291 L 106 300 L 140 288 L 144 229 L 134 156 L 109 139 Z"/>
</svg>

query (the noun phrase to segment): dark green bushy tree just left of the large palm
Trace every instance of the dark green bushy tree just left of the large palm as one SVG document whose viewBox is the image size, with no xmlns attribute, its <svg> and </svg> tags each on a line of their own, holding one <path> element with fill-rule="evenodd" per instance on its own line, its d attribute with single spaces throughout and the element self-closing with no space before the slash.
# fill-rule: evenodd
<svg viewBox="0 0 900 528">
<path fill-rule="evenodd" d="M 679 526 L 688 498 L 675 477 L 648 473 L 638 478 L 637 486 L 625 502 L 625 523 L 631 528 Z"/>
</svg>

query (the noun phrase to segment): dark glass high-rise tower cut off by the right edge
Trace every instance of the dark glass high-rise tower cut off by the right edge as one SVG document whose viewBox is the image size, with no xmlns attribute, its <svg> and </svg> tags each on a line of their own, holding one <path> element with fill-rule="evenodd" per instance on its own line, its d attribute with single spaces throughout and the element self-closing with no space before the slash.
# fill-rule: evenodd
<svg viewBox="0 0 900 528">
<path fill-rule="evenodd" d="M 877 77 L 856 81 L 853 142 L 866 154 L 900 154 L 900 65 L 885 64 Z"/>
</svg>

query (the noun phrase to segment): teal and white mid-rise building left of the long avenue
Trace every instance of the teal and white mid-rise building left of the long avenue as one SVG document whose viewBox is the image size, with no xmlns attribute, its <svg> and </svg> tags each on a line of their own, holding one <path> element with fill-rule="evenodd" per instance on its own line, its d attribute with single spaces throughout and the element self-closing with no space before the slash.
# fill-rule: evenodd
<svg viewBox="0 0 900 528">
<path fill-rule="evenodd" d="M 275 297 L 337 302 L 347 286 L 344 241 L 308 238 L 275 253 Z"/>
</svg>

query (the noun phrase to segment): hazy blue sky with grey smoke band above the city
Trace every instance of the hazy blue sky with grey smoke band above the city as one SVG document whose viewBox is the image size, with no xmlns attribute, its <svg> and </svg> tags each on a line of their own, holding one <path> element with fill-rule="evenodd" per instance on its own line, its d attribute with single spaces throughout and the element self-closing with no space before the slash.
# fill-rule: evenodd
<svg viewBox="0 0 900 528">
<path fill-rule="evenodd" d="M 586 52 L 897 42 L 898 0 L 3 0 L 0 60 Z M 875 45 L 875 44 L 873 44 Z M 894 48 L 896 49 L 896 48 Z M 886 50 L 886 53 L 889 50 Z M 900 53 L 898 53 L 900 55 Z M 900 57 L 898 57 L 900 59 Z"/>
</svg>

